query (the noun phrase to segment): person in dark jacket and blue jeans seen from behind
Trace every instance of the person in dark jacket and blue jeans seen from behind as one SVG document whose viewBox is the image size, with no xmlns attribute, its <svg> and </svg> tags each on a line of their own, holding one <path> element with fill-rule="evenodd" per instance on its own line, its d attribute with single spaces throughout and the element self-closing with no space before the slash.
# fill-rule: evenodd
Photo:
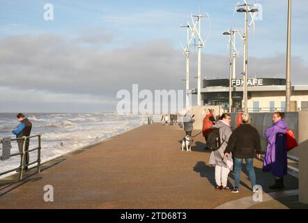
<svg viewBox="0 0 308 223">
<path fill-rule="evenodd" d="M 240 186 L 240 172 L 242 171 L 242 160 L 245 159 L 246 169 L 249 174 L 249 180 L 252 183 L 252 191 L 256 185 L 256 174 L 254 172 L 254 151 L 256 157 L 261 158 L 261 139 L 258 130 L 252 127 L 252 119 L 248 113 L 242 115 L 242 125 L 240 125 L 231 134 L 228 141 L 228 146 L 224 151 L 224 157 L 229 153 L 234 157 L 234 182 L 235 187 L 231 192 L 238 193 Z"/>
</svg>

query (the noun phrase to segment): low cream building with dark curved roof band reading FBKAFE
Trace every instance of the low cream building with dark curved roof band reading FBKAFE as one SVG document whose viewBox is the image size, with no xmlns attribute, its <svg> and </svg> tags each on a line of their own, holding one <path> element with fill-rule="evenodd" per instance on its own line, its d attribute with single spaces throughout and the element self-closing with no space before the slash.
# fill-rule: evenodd
<svg viewBox="0 0 308 223">
<path fill-rule="evenodd" d="M 284 112 L 286 108 L 286 79 L 252 78 L 247 80 L 249 112 Z M 232 111 L 242 110 L 243 79 L 232 79 Z M 197 89 L 192 89 L 197 94 Z M 202 105 L 222 105 L 229 108 L 229 79 L 203 79 Z M 291 88 L 291 111 L 308 111 L 308 85 Z"/>
</svg>

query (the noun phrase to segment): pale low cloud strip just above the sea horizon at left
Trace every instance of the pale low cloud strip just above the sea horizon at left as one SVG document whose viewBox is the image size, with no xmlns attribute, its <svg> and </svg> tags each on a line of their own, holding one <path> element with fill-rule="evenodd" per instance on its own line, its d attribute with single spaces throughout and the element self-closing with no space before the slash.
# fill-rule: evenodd
<svg viewBox="0 0 308 223">
<path fill-rule="evenodd" d="M 0 87 L 0 112 L 91 112 L 113 110 L 114 100 L 88 94 L 52 93 Z"/>
</svg>

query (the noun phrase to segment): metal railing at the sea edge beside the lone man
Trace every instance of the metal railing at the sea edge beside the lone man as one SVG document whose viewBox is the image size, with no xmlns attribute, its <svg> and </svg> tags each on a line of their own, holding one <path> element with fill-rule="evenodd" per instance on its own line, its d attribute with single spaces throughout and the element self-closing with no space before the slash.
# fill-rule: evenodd
<svg viewBox="0 0 308 223">
<path fill-rule="evenodd" d="M 38 173 L 40 173 L 40 150 L 41 150 L 40 138 L 41 138 L 41 136 L 42 136 L 41 134 L 37 134 L 37 135 L 33 135 L 31 137 L 22 137 L 22 138 L 17 138 L 17 139 L 10 139 L 10 141 L 24 140 L 24 142 L 22 144 L 22 153 L 10 154 L 10 157 L 13 157 L 13 156 L 16 156 L 16 155 L 20 155 L 20 167 L 17 167 L 15 169 L 10 169 L 8 171 L 4 171 L 4 172 L 0 173 L 0 176 L 2 176 L 4 174 L 8 174 L 8 173 L 13 172 L 13 171 L 19 170 L 20 171 L 20 180 L 22 180 L 22 175 L 24 173 L 24 170 L 27 167 L 29 167 L 30 165 L 36 164 L 36 163 L 38 164 L 38 166 L 37 166 Z M 29 149 L 28 151 L 26 151 L 26 143 L 27 143 L 27 141 L 29 141 L 29 139 L 33 139 L 33 138 L 36 138 L 36 137 L 38 137 L 38 147 Z M 2 144 L 2 140 L 3 139 L 0 139 L 0 144 Z M 34 162 L 29 162 L 29 164 L 24 164 L 24 159 L 25 159 L 26 155 L 28 155 L 29 153 L 31 153 L 33 151 L 38 151 L 38 159 L 36 161 L 34 161 Z"/>
</svg>

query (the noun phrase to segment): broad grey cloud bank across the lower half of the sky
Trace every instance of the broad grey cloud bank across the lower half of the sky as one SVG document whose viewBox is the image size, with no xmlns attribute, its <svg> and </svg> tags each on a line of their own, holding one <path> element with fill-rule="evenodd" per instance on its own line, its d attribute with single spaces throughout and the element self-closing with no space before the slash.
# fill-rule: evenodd
<svg viewBox="0 0 308 223">
<path fill-rule="evenodd" d="M 115 109 L 116 92 L 131 90 L 184 89 L 185 56 L 167 41 L 125 49 L 80 47 L 61 36 L 12 36 L 0 40 L 0 103 L 4 112 L 29 110 Z M 191 56 L 191 87 L 197 85 L 196 54 Z M 202 54 L 202 77 L 228 77 L 227 56 Z M 284 77 L 285 56 L 249 57 L 254 77 Z M 238 73 L 242 60 L 238 60 Z M 293 84 L 303 82 L 307 66 L 292 59 Z M 26 98 L 26 102 L 19 98 Z M 18 101 L 19 100 L 19 101 Z M 4 106 L 4 108 L 3 108 Z M 14 110 L 15 112 L 15 110 Z M 30 112 L 33 112 L 30 111 Z M 56 112 L 56 111 L 55 111 Z"/>
</svg>

